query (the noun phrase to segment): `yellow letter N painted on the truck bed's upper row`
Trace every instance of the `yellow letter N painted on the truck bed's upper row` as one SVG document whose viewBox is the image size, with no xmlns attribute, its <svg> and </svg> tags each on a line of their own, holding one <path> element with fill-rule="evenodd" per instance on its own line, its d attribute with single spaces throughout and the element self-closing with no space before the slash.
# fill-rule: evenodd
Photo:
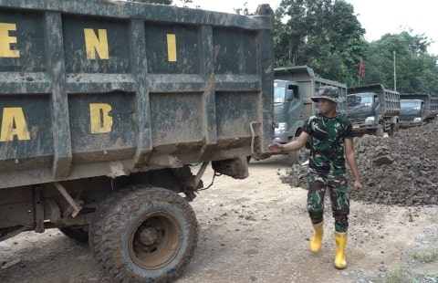
<svg viewBox="0 0 438 283">
<path fill-rule="evenodd" d="M 84 36 L 88 59 L 96 59 L 96 53 L 101 59 L 110 58 L 106 29 L 99 29 L 99 37 L 97 37 L 92 28 L 84 28 Z"/>
</svg>

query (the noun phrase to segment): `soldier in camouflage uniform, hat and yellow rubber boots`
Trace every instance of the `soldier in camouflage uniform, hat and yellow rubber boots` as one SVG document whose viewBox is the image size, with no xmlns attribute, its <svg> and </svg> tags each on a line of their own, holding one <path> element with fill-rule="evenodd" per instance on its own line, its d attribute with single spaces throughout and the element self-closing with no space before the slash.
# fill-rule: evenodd
<svg viewBox="0 0 438 283">
<path fill-rule="evenodd" d="M 318 253 L 322 245 L 324 196 L 328 189 L 335 219 L 337 245 L 335 267 L 343 269 L 347 267 L 345 246 L 349 227 L 346 158 L 355 178 L 354 188 L 361 187 L 353 149 L 353 129 L 349 120 L 337 112 L 337 103 L 340 102 L 338 88 L 323 87 L 319 89 L 318 96 L 312 97 L 312 100 L 318 102 L 320 112 L 305 122 L 299 138 L 287 144 L 272 143 L 268 146 L 268 150 L 270 152 L 297 151 L 310 139 L 308 214 L 315 229 L 310 240 L 310 250 Z"/>
</svg>

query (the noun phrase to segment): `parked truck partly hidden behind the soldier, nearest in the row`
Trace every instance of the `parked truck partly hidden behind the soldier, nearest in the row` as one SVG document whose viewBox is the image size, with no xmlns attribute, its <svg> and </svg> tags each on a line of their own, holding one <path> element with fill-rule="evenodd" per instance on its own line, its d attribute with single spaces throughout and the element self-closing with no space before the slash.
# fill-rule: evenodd
<svg viewBox="0 0 438 283">
<path fill-rule="evenodd" d="M 343 99 L 343 102 L 338 104 L 339 112 L 346 115 L 346 84 L 315 77 L 313 69 L 308 66 L 276 68 L 274 78 L 276 129 L 273 142 L 287 143 L 297 139 L 304 121 L 318 112 L 316 103 L 310 98 L 315 96 L 321 87 L 339 88 L 339 96 Z M 307 162 L 309 149 L 308 144 L 299 151 L 289 152 L 289 161 L 297 164 Z"/>
</svg>

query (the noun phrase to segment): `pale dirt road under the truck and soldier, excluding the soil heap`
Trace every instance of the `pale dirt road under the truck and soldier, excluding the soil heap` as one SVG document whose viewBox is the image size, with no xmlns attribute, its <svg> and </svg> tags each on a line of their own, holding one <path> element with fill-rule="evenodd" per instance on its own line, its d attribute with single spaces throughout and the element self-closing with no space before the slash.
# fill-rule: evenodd
<svg viewBox="0 0 438 283">
<path fill-rule="evenodd" d="M 438 206 L 352 202 L 349 267 L 337 270 L 330 208 L 326 205 L 323 248 L 314 255 L 308 250 L 307 191 L 279 180 L 288 167 L 283 157 L 251 162 L 249 178 L 219 176 L 198 195 L 192 203 L 200 225 L 198 247 L 179 283 L 385 282 L 394 277 L 404 281 L 393 282 L 438 282 Z M 211 180 L 209 170 L 203 183 Z M 0 250 L 0 282 L 113 282 L 87 245 L 55 229 L 13 237 L 0 242 Z"/>
</svg>

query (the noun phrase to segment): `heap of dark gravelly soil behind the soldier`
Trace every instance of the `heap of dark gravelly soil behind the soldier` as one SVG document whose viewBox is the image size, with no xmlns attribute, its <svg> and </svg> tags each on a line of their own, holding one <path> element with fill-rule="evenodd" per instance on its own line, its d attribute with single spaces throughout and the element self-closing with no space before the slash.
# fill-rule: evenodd
<svg viewBox="0 0 438 283">
<path fill-rule="evenodd" d="M 363 187 L 350 188 L 350 199 L 401 206 L 438 204 L 438 123 L 404 129 L 389 138 L 364 135 L 354 139 L 354 147 Z M 307 173 L 307 166 L 293 165 L 280 180 L 307 189 Z"/>
</svg>

